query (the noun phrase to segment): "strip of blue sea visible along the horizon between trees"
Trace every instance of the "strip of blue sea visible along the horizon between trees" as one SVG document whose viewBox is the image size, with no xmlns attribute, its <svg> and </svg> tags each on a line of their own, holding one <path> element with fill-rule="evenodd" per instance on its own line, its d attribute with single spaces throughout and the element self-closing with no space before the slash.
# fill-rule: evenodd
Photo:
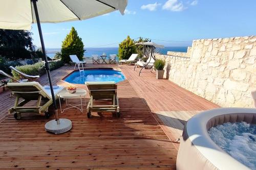
<svg viewBox="0 0 256 170">
<path fill-rule="evenodd" d="M 105 53 L 106 55 L 118 54 L 118 47 L 95 47 L 95 48 L 84 48 L 85 57 L 91 58 L 93 54 L 101 55 Z M 165 46 L 164 48 L 157 48 L 157 52 L 160 54 L 167 54 L 167 51 L 173 52 L 187 52 L 187 46 Z M 47 56 L 53 58 L 57 52 L 60 52 L 60 48 L 47 48 Z"/>
</svg>

